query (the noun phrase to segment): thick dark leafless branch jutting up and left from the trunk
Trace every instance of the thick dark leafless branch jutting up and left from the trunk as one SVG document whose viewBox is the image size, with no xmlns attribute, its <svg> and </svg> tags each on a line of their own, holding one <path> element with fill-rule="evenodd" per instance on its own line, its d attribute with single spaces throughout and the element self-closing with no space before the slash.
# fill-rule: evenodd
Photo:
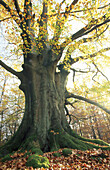
<svg viewBox="0 0 110 170">
<path fill-rule="evenodd" d="M 7 66 L 4 62 L 2 62 L 0 60 L 0 65 L 5 68 L 8 72 L 12 73 L 13 75 L 17 76 L 19 79 L 21 79 L 21 73 L 15 71 L 14 69 L 12 69 L 11 67 Z"/>
</svg>

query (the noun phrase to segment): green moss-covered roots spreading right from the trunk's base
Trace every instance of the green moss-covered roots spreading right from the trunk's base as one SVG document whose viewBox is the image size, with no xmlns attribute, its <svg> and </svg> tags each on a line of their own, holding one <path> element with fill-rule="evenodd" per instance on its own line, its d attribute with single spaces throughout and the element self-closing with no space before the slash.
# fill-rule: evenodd
<svg viewBox="0 0 110 170">
<path fill-rule="evenodd" d="M 78 150 L 101 148 L 103 150 L 104 149 L 110 150 L 110 146 L 102 140 L 86 139 L 80 137 L 77 134 L 75 134 L 74 136 L 74 134 L 70 135 L 66 132 L 53 134 L 53 137 L 51 137 L 50 146 L 51 146 L 51 151 L 58 150 L 59 148 L 72 148 Z"/>
</svg>

